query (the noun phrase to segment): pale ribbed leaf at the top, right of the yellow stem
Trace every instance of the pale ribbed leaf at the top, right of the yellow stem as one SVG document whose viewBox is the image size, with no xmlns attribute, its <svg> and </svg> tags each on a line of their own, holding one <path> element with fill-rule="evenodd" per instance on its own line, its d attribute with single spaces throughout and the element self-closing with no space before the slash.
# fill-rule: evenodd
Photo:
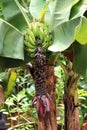
<svg viewBox="0 0 87 130">
<path fill-rule="evenodd" d="M 52 30 L 56 26 L 69 21 L 71 9 L 77 2 L 78 0 L 57 0 L 51 21 Z"/>
</svg>

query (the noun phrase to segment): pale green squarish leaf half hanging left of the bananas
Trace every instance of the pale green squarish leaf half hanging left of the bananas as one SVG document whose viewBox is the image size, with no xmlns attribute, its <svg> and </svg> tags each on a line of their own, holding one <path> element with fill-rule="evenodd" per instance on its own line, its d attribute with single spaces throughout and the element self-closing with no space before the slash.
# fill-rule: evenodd
<svg viewBox="0 0 87 130">
<path fill-rule="evenodd" d="M 0 19 L 0 56 L 24 60 L 23 35 Z"/>
</svg>

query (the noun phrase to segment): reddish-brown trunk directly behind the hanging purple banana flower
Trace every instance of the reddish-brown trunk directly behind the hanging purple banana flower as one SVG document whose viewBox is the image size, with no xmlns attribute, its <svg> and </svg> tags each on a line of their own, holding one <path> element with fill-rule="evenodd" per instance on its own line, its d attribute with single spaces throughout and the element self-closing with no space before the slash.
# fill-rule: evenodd
<svg viewBox="0 0 87 130">
<path fill-rule="evenodd" d="M 57 130 L 56 123 L 56 83 L 57 78 L 54 75 L 54 66 L 46 66 L 46 85 L 47 92 L 50 94 L 52 101 L 50 101 L 51 111 L 46 116 L 38 117 L 38 130 Z"/>
</svg>

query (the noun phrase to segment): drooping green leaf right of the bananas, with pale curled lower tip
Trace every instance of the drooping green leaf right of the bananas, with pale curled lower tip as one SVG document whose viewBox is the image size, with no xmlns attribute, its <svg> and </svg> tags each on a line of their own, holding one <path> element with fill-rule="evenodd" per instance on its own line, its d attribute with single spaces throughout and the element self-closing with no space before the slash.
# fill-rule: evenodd
<svg viewBox="0 0 87 130">
<path fill-rule="evenodd" d="M 79 22 L 80 18 L 77 18 L 57 26 L 53 31 L 53 44 L 48 49 L 52 52 L 60 52 L 67 49 L 75 40 L 74 32 Z"/>
</svg>

